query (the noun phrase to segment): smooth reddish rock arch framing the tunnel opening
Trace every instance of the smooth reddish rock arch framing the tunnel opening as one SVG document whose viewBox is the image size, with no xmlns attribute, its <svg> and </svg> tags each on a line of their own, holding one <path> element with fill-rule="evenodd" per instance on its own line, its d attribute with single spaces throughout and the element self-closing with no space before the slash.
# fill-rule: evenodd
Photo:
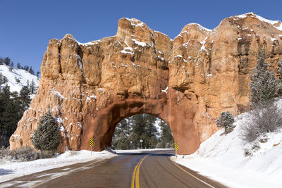
<svg viewBox="0 0 282 188">
<path fill-rule="evenodd" d="M 111 146 L 116 125 L 124 118 L 138 113 L 151 114 L 164 120 L 171 128 L 175 142 L 178 142 L 179 153 L 192 153 L 198 148 L 200 140 L 192 125 L 192 115 L 185 117 L 177 111 L 173 113 L 168 109 L 166 100 L 126 99 L 107 106 L 96 118 L 87 120 L 87 127 L 82 136 L 82 149 L 90 149 L 90 137 L 94 137 L 95 151 L 102 151 Z"/>
</svg>

